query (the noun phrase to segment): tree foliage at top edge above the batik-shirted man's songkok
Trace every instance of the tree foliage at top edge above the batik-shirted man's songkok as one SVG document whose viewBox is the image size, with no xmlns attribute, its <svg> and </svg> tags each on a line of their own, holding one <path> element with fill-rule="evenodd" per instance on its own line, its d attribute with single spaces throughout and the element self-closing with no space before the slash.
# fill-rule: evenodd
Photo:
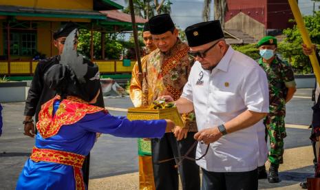
<svg viewBox="0 0 320 190">
<path fill-rule="evenodd" d="M 129 0 L 125 0 L 128 4 L 127 8 L 123 12 L 129 13 Z M 144 19 L 150 19 L 156 14 L 171 12 L 171 1 L 170 0 L 133 0 L 134 3 L 134 13 Z"/>
</svg>

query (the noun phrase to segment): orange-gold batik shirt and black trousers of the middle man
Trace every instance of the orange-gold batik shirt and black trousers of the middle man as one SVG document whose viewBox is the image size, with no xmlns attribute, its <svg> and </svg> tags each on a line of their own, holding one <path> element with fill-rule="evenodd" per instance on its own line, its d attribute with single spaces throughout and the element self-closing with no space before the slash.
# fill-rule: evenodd
<svg viewBox="0 0 320 190">
<path fill-rule="evenodd" d="M 143 59 L 142 71 L 145 77 L 142 92 L 140 92 L 143 94 L 140 96 L 142 105 L 149 106 L 158 97 L 164 95 L 169 95 L 174 100 L 180 98 L 193 63 L 187 54 L 188 50 L 188 45 L 177 39 L 168 52 L 161 52 L 157 49 Z M 184 155 L 186 149 L 193 145 L 195 141 L 193 135 L 198 131 L 194 112 L 184 114 L 182 120 L 184 127 L 188 129 L 185 139 L 177 141 L 172 133 L 166 134 L 161 139 L 151 139 L 151 164 L 156 189 L 178 188 L 178 169 L 182 178 L 182 189 L 200 189 L 199 167 L 195 162 L 184 161 L 178 169 L 174 167 L 177 160 L 159 163 L 160 160 L 166 160 L 169 157 L 179 159 L 179 152 Z M 195 157 L 195 150 L 190 156 Z M 166 184 L 169 181 L 171 184 Z"/>
</svg>

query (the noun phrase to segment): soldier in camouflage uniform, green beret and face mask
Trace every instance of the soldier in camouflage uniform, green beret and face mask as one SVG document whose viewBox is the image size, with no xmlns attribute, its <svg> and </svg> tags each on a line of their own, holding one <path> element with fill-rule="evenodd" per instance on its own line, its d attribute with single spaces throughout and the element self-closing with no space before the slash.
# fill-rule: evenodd
<svg viewBox="0 0 320 190">
<path fill-rule="evenodd" d="M 279 182 L 278 168 L 279 164 L 284 162 L 286 103 L 295 94 L 296 83 L 291 65 L 281 61 L 275 54 L 277 50 L 277 39 L 275 37 L 265 36 L 257 45 L 259 46 L 259 54 L 262 56 L 257 62 L 266 72 L 269 84 L 270 113 L 264 119 L 266 133 L 268 133 L 270 139 L 268 160 L 271 165 L 268 182 Z M 264 165 L 258 168 L 258 177 L 266 178 Z"/>
</svg>

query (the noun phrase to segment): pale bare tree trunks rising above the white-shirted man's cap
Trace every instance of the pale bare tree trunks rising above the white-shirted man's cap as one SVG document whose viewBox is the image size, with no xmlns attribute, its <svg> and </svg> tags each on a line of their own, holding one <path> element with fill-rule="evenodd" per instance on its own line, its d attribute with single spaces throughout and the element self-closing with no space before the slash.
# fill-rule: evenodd
<svg viewBox="0 0 320 190">
<path fill-rule="evenodd" d="M 220 20 L 222 28 L 224 28 L 224 17 L 226 16 L 226 12 L 228 11 L 228 3 L 227 0 L 213 0 L 214 1 L 214 19 Z M 204 8 L 202 10 L 202 19 L 204 21 L 209 21 L 210 19 L 210 5 L 211 0 L 204 0 Z"/>
</svg>

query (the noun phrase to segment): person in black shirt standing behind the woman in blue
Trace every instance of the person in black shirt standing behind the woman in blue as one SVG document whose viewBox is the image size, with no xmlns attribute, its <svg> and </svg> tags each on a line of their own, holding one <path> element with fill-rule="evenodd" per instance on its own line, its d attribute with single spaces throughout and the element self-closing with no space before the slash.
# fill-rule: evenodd
<svg viewBox="0 0 320 190">
<path fill-rule="evenodd" d="M 34 77 L 32 79 L 30 89 L 28 91 L 28 97 L 25 101 L 25 120 L 23 120 L 25 136 L 30 136 L 34 138 L 34 135 L 36 134 L 36 129 L 34 127 L 34 120 L 32 120 L 32 117 L 35 116 L 36 123 L 38 121 L 38 115 L 41 110 L 41 105 L 43 105 L 43 103 L 49 101 L 50 99 L 54 98 L 54 96 L 56 96 L 56 92 L 50 89 L 49 86 L 45 85 L 43 77 L 45 72 L 47 72 L 47 70 L 49 70 L 49 68 L 52 67 L 52 65 L 59 64 L 60 55 L 63 52 L 65 39 L 67 35 L 70 34 L 70 32 L 72 32 L 76 28 L 76 23 L 70 21 L 67 24 L 63 25 L 63 27 L 61 27 L 60 29 L 56 30 L 56 32 L 54 32 L 53 34 L 53 38 L 54 46 L 58 49 L 58 55 L 42 60 L 38 63 L 38 65 L 36 65 Z M 77 45 L 78 41 L 75 40 L 74 47 L 76 48 Z M 94 64 L 87 59 L 84 60 L 84 63 Z M 102 92 L 101 87 L 100 92 Z M 98 96 L 95 105 L 98 107 L 105 107 L 102 93 L 100 93 L 100 95 Z M 88 154 L 88 156 L 85 159 L 85 162 L 83 163 L 83 178 L 85 184 L 88 184 L 89 182 L 89 158 L 90 154 Z"/>
</svg>

